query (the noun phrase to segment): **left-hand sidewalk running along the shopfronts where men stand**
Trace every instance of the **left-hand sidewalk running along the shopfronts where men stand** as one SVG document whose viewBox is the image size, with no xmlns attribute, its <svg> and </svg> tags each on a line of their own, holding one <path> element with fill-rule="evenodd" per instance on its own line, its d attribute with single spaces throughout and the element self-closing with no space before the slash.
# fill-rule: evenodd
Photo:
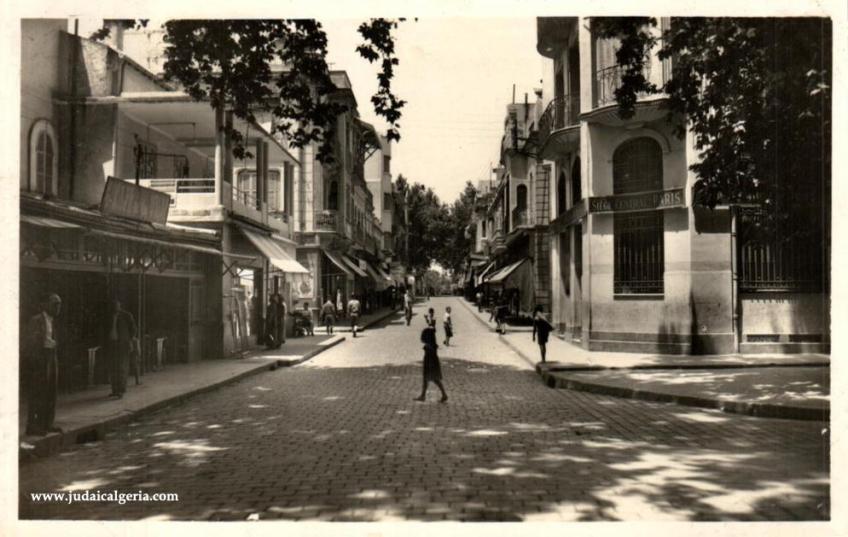
<svg viewBox="0 0 848 537">
<path fill-rule="evenodd" d="M 394 312 L 382 309 L 363 316 L 363 329 L 378 323 Z M 336 328 L 335 332 L 340 332 Z M 347 326 L 350 331 L 350 326 Z M 128 423 L 141 414 L 153 412 L 185 401 L 186 399 L 250 375 L 273 371 L 304 362 L 313 356 L 341 343 L 346 336 L 327 336 L 316 330 L 314 336 L 288 338 L 276 350 L 261 350 L 248 353 L 242 358 L 204 360 L 190 364 L 173 364 L 161 371 L 149 372 L 141 377 L 142 384 L 135 379 L 127 381 L 127 393 L 122 399 L 109 398 L 111 388 L 100 384 L 90 389 L 59 394 L 56 403 L 56 426 L 61 433 L 47 436 L 27 436 L 26 407 L 19 412 L 20 460 L 46 457 L 74 444 L 93 442 L 103 438 L 105 432 Z"/>
</svg>

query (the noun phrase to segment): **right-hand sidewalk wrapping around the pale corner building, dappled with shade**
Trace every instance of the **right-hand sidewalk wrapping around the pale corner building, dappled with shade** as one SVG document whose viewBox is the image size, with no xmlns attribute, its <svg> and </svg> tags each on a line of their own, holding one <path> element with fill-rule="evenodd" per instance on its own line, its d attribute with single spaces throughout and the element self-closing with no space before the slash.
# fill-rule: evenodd
<svg viewBox="0 0 848 537">
<path fill-rule="evenodd" d="M 487 313 L 461 302 L 483 324 Z M 527 333 L 507 331 L 504 344 L 535 366 L 551 388 L 686 406 L 752 416 L 828 420 L 830 356 L 656 355 L 587 351 L 559 337 L 547 345 L 546 364 Z"/>
</svg>

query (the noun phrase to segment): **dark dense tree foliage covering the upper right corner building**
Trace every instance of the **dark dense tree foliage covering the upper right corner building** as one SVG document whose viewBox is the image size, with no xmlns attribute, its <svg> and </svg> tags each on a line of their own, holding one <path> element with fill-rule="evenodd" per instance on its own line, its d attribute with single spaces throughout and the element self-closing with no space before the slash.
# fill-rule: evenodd
<svg viewBox="0 0 848 537">
<path fill-rule="evenodd" d="M 633 115 L 639 93 L 667 95 L 668 120 L 680 136 L 688 127 L 699 151 L 697 205 L 756 202 L 767 227 L 787 230 L 816 219 L 830 184 L 830 20 L 683 17 L 659 35 L 656 26 L 591 21 L 595 35 L 620 39 L 620 115 Z M 643 76 L 652 49 L 672 64 L 661 86 Z"/>
</svg>

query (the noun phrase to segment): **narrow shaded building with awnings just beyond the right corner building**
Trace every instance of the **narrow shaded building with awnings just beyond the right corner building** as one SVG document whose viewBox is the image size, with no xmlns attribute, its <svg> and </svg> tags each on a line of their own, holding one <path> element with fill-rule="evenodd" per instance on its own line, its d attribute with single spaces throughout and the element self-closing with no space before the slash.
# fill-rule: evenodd
<svg viewBox="0 0 848 537">
<path fill-rule="evenodd" d="M 479 237 L 489 242 L 490 263 L 478 280 L 514 315 L 536 305 L 550 309 L 549 167 L 537 160 L 538 105 L 510 104 L 504 120 L 498 182 Z M 485 199 L 485 197 L 484 197 Z"/>
</svg>

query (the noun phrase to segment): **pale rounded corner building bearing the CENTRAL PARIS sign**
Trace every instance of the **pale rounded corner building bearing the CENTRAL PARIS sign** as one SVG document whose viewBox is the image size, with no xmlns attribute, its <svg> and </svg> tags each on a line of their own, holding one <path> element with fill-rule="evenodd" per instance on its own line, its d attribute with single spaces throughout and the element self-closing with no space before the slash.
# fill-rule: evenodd
<svg viewBox="0 0 848 537">
<path fill-rule="evenodd" d="M 588 20 L 538 19 L 553 79 L 537 152 L 553 172 L 555 324 L 593 350 L 826 351 L 821 242 L 755 237 L 739 207 L 693 207 L 693 138 L 672 133 L 662 94 L 619 117 L 616 47 Z M 671 61 L 653 53 L 646 78 L 662 85 Z"/>
</svg>

